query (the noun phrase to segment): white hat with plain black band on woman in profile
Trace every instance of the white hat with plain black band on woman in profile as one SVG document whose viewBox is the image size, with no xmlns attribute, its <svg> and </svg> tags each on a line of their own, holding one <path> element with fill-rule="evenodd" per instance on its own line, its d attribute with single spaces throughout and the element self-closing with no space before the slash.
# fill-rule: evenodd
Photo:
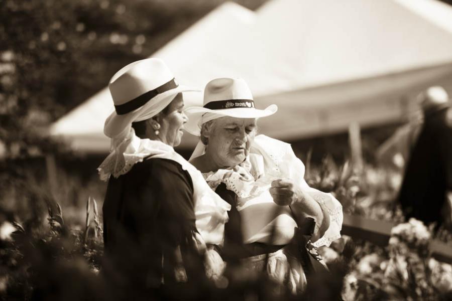
<svg viewBox="0 0 452 301">
<path fill-rule="evenodd" d="M 110 138 L 122 136 L 132 122 L 158 114 L 178 93 L 199 92 L 178 85 L 168 66 L 158 58 L 136 61 L 123 67 L 110 79 L 108 89 L 115 111 L 105 120 L 103 132 Z"/>
</svg>

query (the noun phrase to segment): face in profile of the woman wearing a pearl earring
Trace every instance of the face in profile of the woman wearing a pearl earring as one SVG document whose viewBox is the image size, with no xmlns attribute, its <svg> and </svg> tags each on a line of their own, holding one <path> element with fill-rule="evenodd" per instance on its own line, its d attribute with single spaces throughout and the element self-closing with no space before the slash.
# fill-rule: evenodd
<svg viewBox="0 0 452 301">
<path fill-rule="evenodd" d="M 160 140 L 173 147 L 180 144 L 184 134 L 182 131 L 184 123 L 188 121 L 183 109 L 184 99 L 182 93 L 179 93 L 168 105 L 167 113 L 162 112 L 158 118 L 160 123 L 158 136 Z"/>
</svg>

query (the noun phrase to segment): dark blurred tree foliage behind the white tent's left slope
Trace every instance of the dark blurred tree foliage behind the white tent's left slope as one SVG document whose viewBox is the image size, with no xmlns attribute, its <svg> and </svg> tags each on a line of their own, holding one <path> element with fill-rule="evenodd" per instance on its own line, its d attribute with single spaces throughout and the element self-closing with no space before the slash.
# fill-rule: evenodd
<svg viewBox="0 0 452 301">
<path fill-rule="evenodd" d="M 256 9 L 266 0 L 238 0 Z M 50 122 L 223 0 L 0 1 L 0 158 L 53 149 Z"/>
</svg>

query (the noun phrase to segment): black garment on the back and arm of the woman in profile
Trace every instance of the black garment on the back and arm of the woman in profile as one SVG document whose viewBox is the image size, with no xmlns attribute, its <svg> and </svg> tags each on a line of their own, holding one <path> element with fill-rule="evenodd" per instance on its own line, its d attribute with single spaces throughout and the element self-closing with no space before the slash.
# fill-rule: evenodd
<svg viewBox="0 0 452 301">
<path fill-rule="evenodd" d="M 177 162 L 145 160 L 110 177 L 103 228 L 104 274 L 122 292 L 178 282 L 181 267 L 188 281 L 202 271 L 193 240 L 193 184 Z"/>
</svg>

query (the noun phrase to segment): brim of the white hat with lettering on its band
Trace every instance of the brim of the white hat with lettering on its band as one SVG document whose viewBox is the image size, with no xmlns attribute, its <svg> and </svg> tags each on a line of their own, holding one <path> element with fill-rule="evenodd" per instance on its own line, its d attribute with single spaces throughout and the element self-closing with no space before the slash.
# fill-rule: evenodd
<svg viewBox="0 0 452 301">
<path fill-rule="evenodd" d="M 201 128 L 199 120 L 205 113 L 215 113 L 222 116 L 230 116 L 235 118 L 261 118 L 273 115 L 278 110 L 276 104 L 271 104 L 263 110 L 256 108 L 230 108 L 230 109 L 218 109 L 212 110 L 199 106 L 192 106 L 185 109 L 185 114 L 188 117 L 187 123 L 185 123 L 185 130 L 190 134 L 199 136 Z"/>
</svg>

